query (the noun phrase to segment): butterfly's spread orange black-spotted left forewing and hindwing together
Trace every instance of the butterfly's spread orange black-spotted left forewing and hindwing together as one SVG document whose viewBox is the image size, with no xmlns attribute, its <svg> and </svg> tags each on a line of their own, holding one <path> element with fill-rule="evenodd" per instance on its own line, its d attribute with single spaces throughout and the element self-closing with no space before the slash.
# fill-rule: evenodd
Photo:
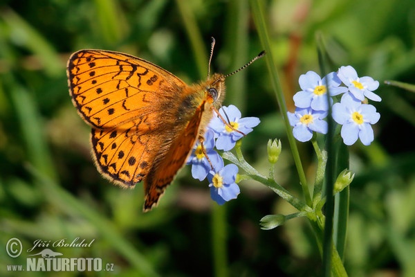
<svg viewBox="0 0 415 277">
<path fill-rule="evenodd" d="M 185 127 L 167 107 L 186 84 L 150 62 L 113 51 L 78 51 L 67 74 L 73 104 L 93 127 L 98 170 L 120 186 L 142 181 L 156 157 L 167 154 L 160 145 Z"/>
</svg>

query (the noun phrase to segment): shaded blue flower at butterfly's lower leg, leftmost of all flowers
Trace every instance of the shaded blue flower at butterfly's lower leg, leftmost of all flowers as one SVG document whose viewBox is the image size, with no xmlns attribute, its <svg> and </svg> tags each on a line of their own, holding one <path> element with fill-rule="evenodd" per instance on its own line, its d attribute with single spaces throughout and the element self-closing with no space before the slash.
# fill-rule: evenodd
<svg viewBox="0 0 415 277">
<path fill-rule="evenodd" d="M 203 148 L 205 149 L 205 153 L 203 153 L 202 145 L 200 141 L 198 141 L 196 145 L 194 145 L 192 154 L 190 154 L 190 157 L 187 159 L 187 164 L 192 165 L 192 177 L 194 179 L 199 179 L 200 181 L 203 181 L 206 176 L 208 176 L 208 172 L 212 169 L 212 166 L 223 167 L 222 157 L 219 156 L 219 154 L 213 149 L 214 132 L 211 129 L 207 129 L 205 132 Z M 208 155 L 212 166 L 210 165 L 205 154 Z"/>
</svg>

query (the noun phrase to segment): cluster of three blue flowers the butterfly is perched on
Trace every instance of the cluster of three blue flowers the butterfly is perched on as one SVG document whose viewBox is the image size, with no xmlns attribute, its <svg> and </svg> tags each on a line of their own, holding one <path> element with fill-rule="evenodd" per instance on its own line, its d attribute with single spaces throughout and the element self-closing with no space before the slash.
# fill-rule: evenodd
<svg viewBox="0 0 415 277">
<path fill-rule="evenodd" d="M 203 181 L 206 177 L 210 182 L 210 195 L 219 205 L 237 198 L 239 186 L 236 183 L 238 167 L 234 164 L 225 166 L 222 157 L 216 150 L 228 151 L 244 135 L 252 132 L 259 124 L 259 118 L 241 118 L 241 111 L 234 105 L 221 107 L 221 117 L 212 118 L 205 132 L 203 143 L 198 141 L 187 159 L 192 165 L 192 177 Z M 223 118 L 228 120 L 223 122 Z M 214 150 L 216 148 L 216 150 Z"/>
</svg>

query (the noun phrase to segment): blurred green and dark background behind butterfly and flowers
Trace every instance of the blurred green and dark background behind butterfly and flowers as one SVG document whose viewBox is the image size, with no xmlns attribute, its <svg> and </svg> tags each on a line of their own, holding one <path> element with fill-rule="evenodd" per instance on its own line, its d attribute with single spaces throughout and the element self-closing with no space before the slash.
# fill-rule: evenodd
<svg viewBox="0 0 415 277">
<path fill-rule="evenodd" d="M 360 76 L 379 80 L 376 139 L 369 147 L 359 142 L 350 148 L 356 177 L 344 265 L 350 276 L 408 276 L 415 267 L 415 95 L 383 82 L 415 83 L 415 1 L 263 5 L 291 111 L 299 75 L 319 72 L 317 33 L 324 37 L 332 71 L 351 65 Z M 35 240 L 77 237 L 94 241 L 91 247 L 49 248 L 65 258 L 102 258 L 115 271 L 30 276 L 319 276 L 320 254 L 306 220 L 260 229 L 264 215 L 293 211 L 261 184 L 242 182 L 238 199 L 218 208 L 207 181 L 195 181 L 186 167 L 158 208 L 143 214 L 140 184 L 122 190 L 95 170 L 89 127 L 68 96 L 69 55 L 82 48 L 122 51 L 192 83 L 207 74 L 210 37 L 216 39 L 212 69 L 221 73 L 263 49 L 246 0 L 1 0 L 0 276 L 29 276 L 7 271 L 6 265 L 26 266 L 26 249 Z M 267 175 L 266 143 L 282 139 L 276 179 L 300 195 L 264 60 L 228 78 L 227 85 L 224 104 L 261 119 L 243 139 L 246 159 Z M 299 143 L 299 150 L 312 182 L 311 143 Z M 23 244 L 18 258 L 5 251 L 10 238 Z M 212 254 L 214 247 L 221 256 Z M 215 260 L 227 263 L 228 271 L 214 269 Z"/>
</svg>

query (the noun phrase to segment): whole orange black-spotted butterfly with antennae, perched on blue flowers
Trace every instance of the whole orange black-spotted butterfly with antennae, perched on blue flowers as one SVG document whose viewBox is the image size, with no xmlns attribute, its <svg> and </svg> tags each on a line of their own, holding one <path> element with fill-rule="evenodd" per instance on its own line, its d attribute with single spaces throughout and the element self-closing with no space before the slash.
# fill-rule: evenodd
<svg viewBox="0 0 415 277">
<path fill-rule="evenodd" d="M 214 39 L 210 60 L 213 47 Z M 264 51 L 241 69 L 262 55 Z M 143 181 L 143 211 L 150 211 L 196 141 L 203 141 L 225 96 L 225 78 L 233 73 L 214 73 L 189 86 L 160 66 L 125 53 L 73 53 L 67 64 L 69 94 L 91 125 L 98 171 L 124 188 Z"/>
</svg>

